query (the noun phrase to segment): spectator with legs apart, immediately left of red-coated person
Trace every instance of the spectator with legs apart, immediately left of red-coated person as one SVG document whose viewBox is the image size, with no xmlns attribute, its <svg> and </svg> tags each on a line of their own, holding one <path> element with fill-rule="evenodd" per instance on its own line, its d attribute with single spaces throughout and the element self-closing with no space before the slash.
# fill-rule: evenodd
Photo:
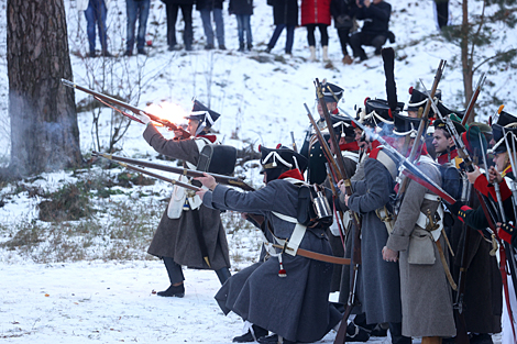
<svg viewBox="0 0 517 344">
<path fill-rule="evenodd" d="M 276 25 L 273 36 L 267 44 L 266 53 L 270 53 L 278 41 L 284 29 L 287 32 L 285 41 L 285 53 L 293 54 L 293 42 L 295 41 L 295 27 L 298 25 L 298 1 L 297 0 L 268 0 L 273 5 L 273 20 Z"/>
</svg>

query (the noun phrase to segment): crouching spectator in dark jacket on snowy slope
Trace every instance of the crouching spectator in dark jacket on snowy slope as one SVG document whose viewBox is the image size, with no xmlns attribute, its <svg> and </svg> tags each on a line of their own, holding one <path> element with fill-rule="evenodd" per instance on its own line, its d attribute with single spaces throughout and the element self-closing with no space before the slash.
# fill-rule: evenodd
<svg viewBox="0 0 517 344">
<path fill-rule="evenodd" d="M 375 55 L 381 55 L 384 43 L 392 35 L 388 30 L 392 5 L 384 0 L 356 0 L 356 19 L 364 20 L 364 24 L 360 32 L 350 37 L 350 46 L 354 57 L 365 60 L 369 57 L 362 45 L 375 47 Z"/>
</svg>

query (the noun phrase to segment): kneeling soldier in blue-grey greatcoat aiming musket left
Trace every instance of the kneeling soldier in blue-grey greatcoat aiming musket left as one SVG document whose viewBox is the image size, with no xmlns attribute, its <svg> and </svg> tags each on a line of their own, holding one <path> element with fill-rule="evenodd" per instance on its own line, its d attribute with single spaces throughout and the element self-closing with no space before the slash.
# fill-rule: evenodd
<svg viewBox="0 0 517 344">
<path fill-rule="evenodd" d="M 198 191 L 204 204 L 263 215 L 265 229 L 283 240 L 294 241 L 297 225 L 298 191 L 304 184 L 300 170 L 307 160 L 289 148 L 261 148 L 261 164 L 266 186 L 253 192 L 240 192 L 216 184 L 207 177 L 196 178 L 210 191 Z M 298 229 L 298 230 L 296 230 Z M 307 226 L 300 248 L 331 255 L 321 225 Z M 292 237 L 293 235 L 293 237 Z M 288 251 L 286 251 L 288 252 Z M 341 313 L 329 303 L 332 265 L 271 247 L 270 258 L 233 275 L 216 295 L 222 311 L 239 314 L 250 325 L 235 342 L 310 343 L 321 340 L 341 320 Z M 273 335 L 265 336 L 267 331 Z M 262 335 L 262 337 L 261 337 Z M 282 339 L 280 339 L 282 337 Z"/>
</svg>

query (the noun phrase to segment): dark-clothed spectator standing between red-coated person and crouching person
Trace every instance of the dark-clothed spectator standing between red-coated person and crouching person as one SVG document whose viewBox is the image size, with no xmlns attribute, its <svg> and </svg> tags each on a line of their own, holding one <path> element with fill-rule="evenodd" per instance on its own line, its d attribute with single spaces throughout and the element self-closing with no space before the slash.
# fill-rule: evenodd
<svg viewBox="0 0 517 344">
<path fill-rule="evenodd" d="M 346 49 L 346 44 L 350 44 L 350 32 L 355 26 L 355 12 L 358 5 L 355 0 L 332 0 L 330 2 L 330 13 L 334 19 L 334 26 L 338 31 L 339 43 L 343 52 L 343 64 L 350 65 L 353 59 L 350 57 Z"/>
</svg>

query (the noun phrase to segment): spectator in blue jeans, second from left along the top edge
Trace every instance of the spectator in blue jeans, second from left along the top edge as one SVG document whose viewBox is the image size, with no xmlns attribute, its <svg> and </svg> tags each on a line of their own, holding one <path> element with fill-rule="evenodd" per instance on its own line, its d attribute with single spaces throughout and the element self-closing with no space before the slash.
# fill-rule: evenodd
<svg viewBox="0 0 517 344">
<path fill-rule="evenodd" d="M 136 49 L 139 54 L 145 55 L 145 29 L 147 27 L 148 9 L 151 0 L 125 0 L 125 9 L 128 12 L 128 40 L 125 47 L 125 56 L 133 55 L 134 46 L 134 29 L 136 26 L 136 18 L 139 18 L 139 32 L 136 34 Z"/>
</svg>

